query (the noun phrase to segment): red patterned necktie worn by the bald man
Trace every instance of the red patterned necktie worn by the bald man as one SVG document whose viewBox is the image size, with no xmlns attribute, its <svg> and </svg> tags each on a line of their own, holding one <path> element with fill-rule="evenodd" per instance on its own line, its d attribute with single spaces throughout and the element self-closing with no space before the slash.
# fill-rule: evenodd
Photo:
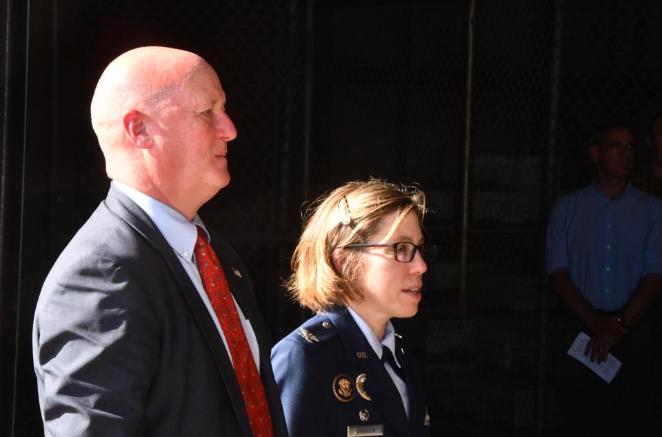
<svg viewBox="0 0 662 437">
<path fill-rule="evenodd" d="M 272 437 L 273 428 L 267 397 L 246 334 L 241 326 L 237 307 L 234 306 L 230 287 L 225 280 L 225 274 L 219 265 L 214 249 L 207 242 L 205 231 L 200 226 L 196 227 L 198 238 L 193 250 L 195 262 L 200 271 L 205 292 L 219 318 L 225 340 L 228 342 L 232 365 L 237 373 L 237 381 L 246 405 L 250 428 L 255 437 Z"/>
</svg>

